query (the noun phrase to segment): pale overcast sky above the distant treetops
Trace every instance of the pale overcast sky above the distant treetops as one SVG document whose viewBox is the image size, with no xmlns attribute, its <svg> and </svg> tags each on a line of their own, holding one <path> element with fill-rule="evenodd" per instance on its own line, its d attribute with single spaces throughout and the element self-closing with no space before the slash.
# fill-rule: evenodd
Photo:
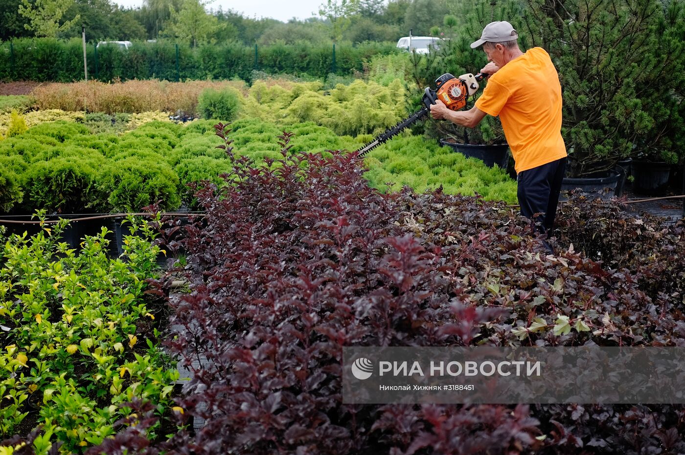
<svg viewBox="0 0 685 455">
<path fill-rule="evenodd" d="M 125 8 L 138 8 L 142 5 L 142 0 L 112 0 Z M 235 10 L 247 17 L 271 17 L 279 21 L 287 22 L 288 19 L 296 17 L 306 19 L 317 16 L 319 5 L 325 0 L 214 0 L 208 5 L 208 9 Z"/>
</svg>

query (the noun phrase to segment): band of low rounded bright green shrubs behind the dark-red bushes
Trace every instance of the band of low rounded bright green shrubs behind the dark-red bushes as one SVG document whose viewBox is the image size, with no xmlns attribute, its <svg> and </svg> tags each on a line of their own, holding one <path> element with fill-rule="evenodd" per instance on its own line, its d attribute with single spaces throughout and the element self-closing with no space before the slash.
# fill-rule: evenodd
<svg viewBox="0 0 685 455">
<path fill-rule="evenodd" d="M 10 213 L 138 211 L 162 200 L 164 209 L 175 210 L 182 203 L 195 204 L 188 183 L 199 179 L 221 183 L 219 174 L 230 168 L 223 151 L 215 148 L 218 138 L 212 133 L 212 120 L 196 120 L 185 127 L 149 122 L 123 135 L 94 135 L 86 125 L 50 122 L 1 141 L 0 179 L 5 185 L 0 190 L 0 207 Z M 242 119 L 233 128 L 238 153 L 259 161 L 278 157 L 273 138 L 281 129 L 273 123 Z M 361 145 L 360 139 L 335 135 L 313 122 L 287 128 L 295 133 L 293 153 L 353 151 Z M 416 156 L 437 159 L 435 169 L 440 172 Z M 385 187 L 381 179 L 388 178 L 421 190 L 445 183 L 450 191 L 515 199 L 515 183 L 503 171 L 467 161 L 419 138 L 397 138 L 372 151 L 367 161 L 380 166 L 369 173 L 371 184 L 378 187 Z M 401 171 L 383 170 L 393 166 Z M 440 182 L 443 177 L 449 177 L 449 182 Z"/>
</svg>

